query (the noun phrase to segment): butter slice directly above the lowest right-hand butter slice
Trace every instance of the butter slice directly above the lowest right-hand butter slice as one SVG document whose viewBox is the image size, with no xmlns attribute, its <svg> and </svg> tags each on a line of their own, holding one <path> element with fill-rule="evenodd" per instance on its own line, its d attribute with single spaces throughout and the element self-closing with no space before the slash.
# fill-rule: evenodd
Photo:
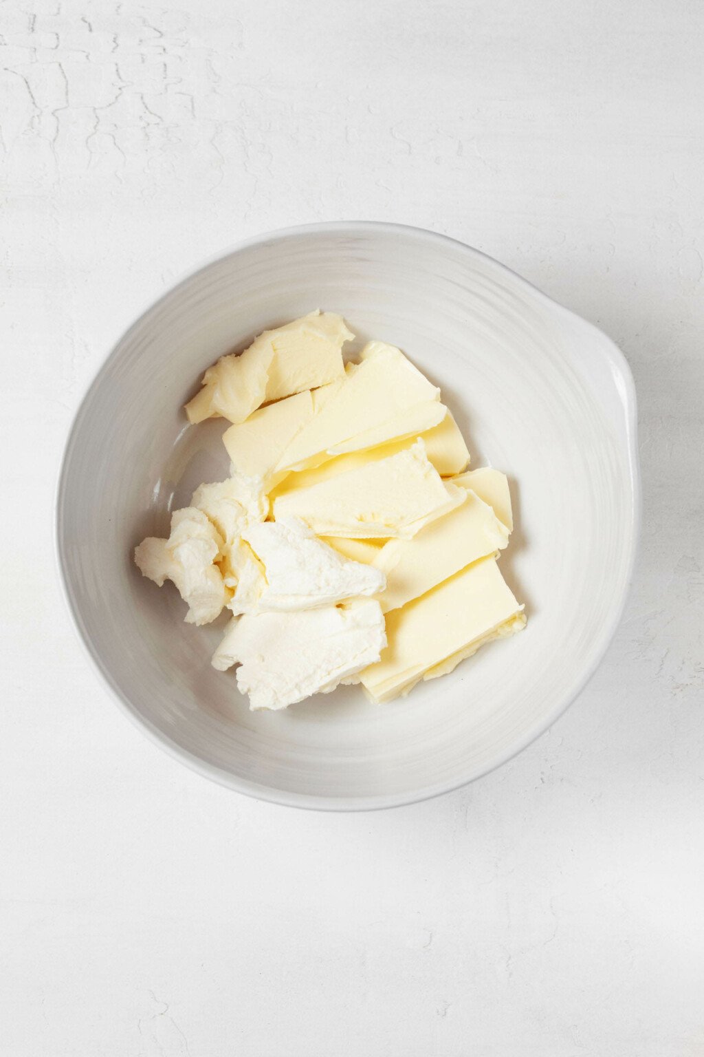
<svg viewBox="0 0 704 1057">
<path fill-rule="evenodd" d="M 382 612 L 405 606 L 508 542 L 508 530 L 491 506 L 468 493 L 467 502 L 413 539 L 392 539 L 381 549 L 374 565 L 386 575 L 386 589 L 377 595 Z"/>
</svg>

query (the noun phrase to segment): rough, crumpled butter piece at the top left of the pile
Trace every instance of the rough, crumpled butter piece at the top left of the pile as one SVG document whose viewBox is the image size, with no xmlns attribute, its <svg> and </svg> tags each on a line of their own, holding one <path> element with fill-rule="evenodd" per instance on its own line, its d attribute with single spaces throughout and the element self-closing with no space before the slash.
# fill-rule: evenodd
<svg viewBox="0 0 704 1057">
<path fill-rule="evenodd" d="M 264 403 L 334 382 L 344 374 L 342 346 L 353 337 L 341 316 L 319 311 L 264 331 L 244 352 L 208 368 L 186 405 L 189 421 L 223 415 L 241 423 Z"/>
</svg>

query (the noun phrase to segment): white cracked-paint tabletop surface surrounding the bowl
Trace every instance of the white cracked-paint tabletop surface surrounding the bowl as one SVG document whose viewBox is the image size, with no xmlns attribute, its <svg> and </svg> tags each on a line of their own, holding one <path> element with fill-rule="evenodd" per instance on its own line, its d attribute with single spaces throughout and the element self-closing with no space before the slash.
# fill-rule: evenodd
<svg viewBox="0 0 704 1057">
<path fill-rule="evenodd" d="M 700 0 L 0 20 L 2 1053 L 704 1054 Z M 468 789 L 357 816 L 148 743 L 52 548 L 66 429 L 120 331 L 240 238 L 340 219 L 453 235 L 603 327 L 645 489 L 624 620 L 568 713 Z"/>
</svg>

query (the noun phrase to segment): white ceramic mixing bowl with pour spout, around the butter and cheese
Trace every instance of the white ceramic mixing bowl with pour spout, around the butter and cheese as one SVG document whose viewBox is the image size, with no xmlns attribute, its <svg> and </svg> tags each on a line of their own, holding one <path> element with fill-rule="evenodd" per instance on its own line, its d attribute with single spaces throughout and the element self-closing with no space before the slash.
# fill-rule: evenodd
<svg viewBox="0 0 704 1057">
<path fill-rule="evenodd" d="M 204 369 L 311 309 L 399 346 L 442 388 L 473 466 L 508 472 L 517 527 L 501 569 L 528 627 L 406 699 L 358 687 L 250 712 L 210 666 L 222 633 L 132 562 L 202 481 L 227 477 L 211 420 L 182 410 Z M 619 349 L 483 254 L 430 231 L 341 223 L 263 236 L 184 279 L 117 344 L 68 441 L 57 502 L 65 592 L 117 701 L 160 745 L 241 793 L 328 810 L 446 792 L 544 731 L 602 657 L 635 552 L 633 382 Z"/>
</svg>

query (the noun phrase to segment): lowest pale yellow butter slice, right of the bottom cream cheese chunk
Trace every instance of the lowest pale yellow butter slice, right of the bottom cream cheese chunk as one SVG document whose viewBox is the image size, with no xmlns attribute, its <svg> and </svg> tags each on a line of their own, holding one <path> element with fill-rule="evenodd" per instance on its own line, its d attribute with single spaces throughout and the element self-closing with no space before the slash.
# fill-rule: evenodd
<svg viewBox="0 0 704 1057">
<path fill-rule="evenodd" d="M 360 682 L 377 703 L 405 694 L 419 680 L 452 671 L 484 643 L 520 631 L 522 609 L 496 559 L 481 558 L 386 614 L 388 645 Z"/>
</svg>

